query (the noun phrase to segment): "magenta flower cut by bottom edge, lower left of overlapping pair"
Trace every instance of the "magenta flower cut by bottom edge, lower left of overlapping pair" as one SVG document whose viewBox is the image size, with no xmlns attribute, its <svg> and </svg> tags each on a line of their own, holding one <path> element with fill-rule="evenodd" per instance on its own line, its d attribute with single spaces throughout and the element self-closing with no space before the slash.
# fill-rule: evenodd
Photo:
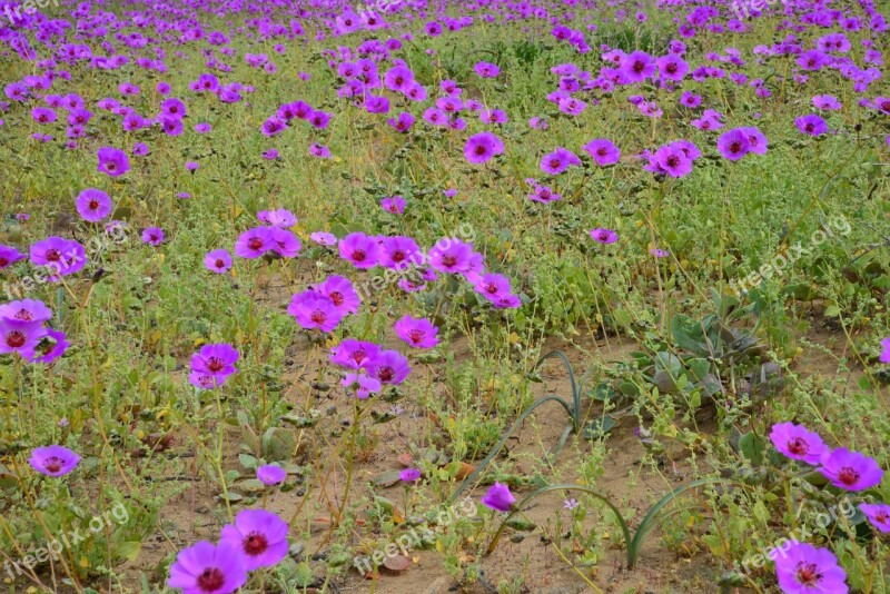
<svg viewBox="0 0 890 594">
<path fill-rule="evenodd" d="M 167 586 L 184 594 L 231 594 L 247 582 L 246 564 L 241 546 L 198 541 L 179 552 Z"/>
</svg>

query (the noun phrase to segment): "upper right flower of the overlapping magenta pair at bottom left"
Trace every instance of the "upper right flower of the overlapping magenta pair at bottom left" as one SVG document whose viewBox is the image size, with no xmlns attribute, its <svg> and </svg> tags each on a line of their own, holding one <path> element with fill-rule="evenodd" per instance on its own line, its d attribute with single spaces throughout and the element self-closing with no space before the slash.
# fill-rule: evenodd
<svg viewBox="0 0 890 594">
<path fill-rule="evenodd" d="M 244 509 L 222 526 L 219 544 L 241 551 L 248 572 L 273 567 L 287 556 L 287 522 L 265 509 Z"/>
</svg>

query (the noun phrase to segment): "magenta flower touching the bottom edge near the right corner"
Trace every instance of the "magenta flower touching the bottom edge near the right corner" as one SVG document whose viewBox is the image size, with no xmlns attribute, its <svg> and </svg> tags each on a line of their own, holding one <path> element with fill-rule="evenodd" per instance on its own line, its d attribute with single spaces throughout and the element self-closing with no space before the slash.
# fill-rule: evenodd
<svg viewBox="0 0 890 594">
<path fill-rule="evenodd" d="M 847 594 L 847 573 L 828 548 L 793 541 L 778 554 L 775 577 L 785 594 Z"/>
</svg>

